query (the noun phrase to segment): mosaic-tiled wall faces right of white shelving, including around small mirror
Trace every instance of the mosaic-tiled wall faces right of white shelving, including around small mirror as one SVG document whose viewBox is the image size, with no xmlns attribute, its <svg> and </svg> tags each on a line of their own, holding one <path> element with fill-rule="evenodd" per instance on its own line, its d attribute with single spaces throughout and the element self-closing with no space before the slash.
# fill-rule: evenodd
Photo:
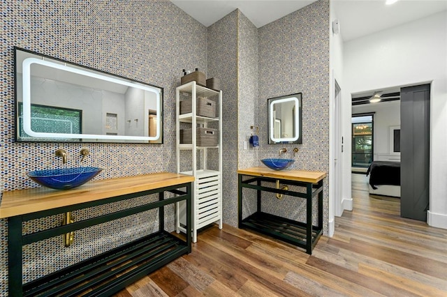
<svg viewBox="0 0 447 297">
<path fill-rule="evenodd" d="M 283 147 L 267 141 L 268 98 L 303 93 L 305 136 L 303 144 L 285 145 L 287 157 L 296 159 L 293 169 L 328 172 L 328 24 L 329 4 L 322 0 L 260 29 L 256 29 L 240 10 L 208 28 L 208 71 L 212 76 L 224 77 L 223 222 L 226 224 L 237 226 L 237 169 L 263 167 L 261 159 L 276 156 Z M 233 43 L 235 39 L 237 45 Z M 237 56 L 235 61 L 234 55 Z M 244 150 L 243 142 L 251 134 L 250 125 L 259 125 L 261 146 Z M 293 156 L 295 146 L 300 151 Z M 325 234 L 328 231 L 327 181 L 328 178 L 323 197 Z M 254 193 L 244 192 L 244 217 L 255 211 L 254 203 Z M 314 201 L 314 213 L 316 205 Z M 286 196 L 281 201 L 265 199 L 263 211 L 301 222 L 306 220 L 305 203 L 297 204 L 296 199 Z"/>
</svg>

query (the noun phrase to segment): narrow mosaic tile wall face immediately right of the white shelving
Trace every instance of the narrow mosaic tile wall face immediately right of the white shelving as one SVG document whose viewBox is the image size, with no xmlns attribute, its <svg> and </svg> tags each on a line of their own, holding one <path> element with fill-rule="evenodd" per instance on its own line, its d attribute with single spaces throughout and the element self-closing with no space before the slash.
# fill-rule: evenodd
<svg viewBox="0 0 447 297">
<path fill-rule="evenodd" d="M 221 80 L 223 96 L 223 222 L 237 226 L 237 10 L 208 27 L 208 77 Z"/>
</svg>

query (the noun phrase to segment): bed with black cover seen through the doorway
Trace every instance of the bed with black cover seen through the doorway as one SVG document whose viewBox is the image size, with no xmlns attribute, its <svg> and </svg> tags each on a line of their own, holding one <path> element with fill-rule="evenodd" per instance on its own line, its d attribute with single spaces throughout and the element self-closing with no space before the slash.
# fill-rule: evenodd
<svg viewBox="0 0 447 297">
<path fill-rule="evenodd" d="M 373 161 L 366 175 L 369 194 L 400 197 L 400 162 Z"/>
</svg>

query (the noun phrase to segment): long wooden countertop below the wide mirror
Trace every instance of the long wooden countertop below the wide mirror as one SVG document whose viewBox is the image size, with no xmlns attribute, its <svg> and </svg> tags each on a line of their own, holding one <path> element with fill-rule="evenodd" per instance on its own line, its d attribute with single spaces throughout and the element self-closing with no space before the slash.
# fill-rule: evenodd
<svg viewBox="0 0 447 297">
<path fill-rule="evenodd" d="M 53 190 L 50 188 L 32 188 L 3 192 L 0 204 L 0 218 L 24 215 L 36 211 L 70 206 L 119 195 L 145 190 L 179 185 L 194 181 L 193 176 L 159 172 L 139 176 L 91 181 L 71 190 Z"/>
</svg>

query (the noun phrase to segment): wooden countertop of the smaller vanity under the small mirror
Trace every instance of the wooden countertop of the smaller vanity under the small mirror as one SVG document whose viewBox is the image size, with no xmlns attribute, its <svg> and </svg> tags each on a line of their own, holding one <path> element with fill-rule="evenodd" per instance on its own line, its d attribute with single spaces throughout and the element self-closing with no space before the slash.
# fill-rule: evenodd
<svg viewBox="0 0 447 297">
<path fill-rule="evenodd" d="M 307 170 L 273 170 L 268 167 L 251 167 L 237 170 L 238 174 L 251 176 L 264 176 L 287 179 L 289 181 L 302 181 L 305 183 L 318 183 L 326 177 L 325 172 L 309 172 Z"/>
</svg>

